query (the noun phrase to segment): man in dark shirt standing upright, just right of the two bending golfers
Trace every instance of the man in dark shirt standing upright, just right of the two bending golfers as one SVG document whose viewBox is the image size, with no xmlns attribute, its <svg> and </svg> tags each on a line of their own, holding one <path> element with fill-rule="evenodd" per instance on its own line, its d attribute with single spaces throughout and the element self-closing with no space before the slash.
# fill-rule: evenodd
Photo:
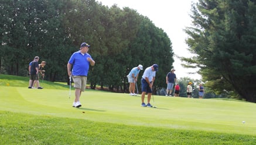
<svg viewBox="0 0 256 145">
<path fill-rule="evenodd" d="M 170 72 L 168 72 L 166 75 L 167 88 L 166 88 L 165 96 L 172 97 L 172 89 L 176 82 L 176 75 L 175 75 L 174 71 L 175 71 L 175 69 L 170 69 Z"/>
</svg>

